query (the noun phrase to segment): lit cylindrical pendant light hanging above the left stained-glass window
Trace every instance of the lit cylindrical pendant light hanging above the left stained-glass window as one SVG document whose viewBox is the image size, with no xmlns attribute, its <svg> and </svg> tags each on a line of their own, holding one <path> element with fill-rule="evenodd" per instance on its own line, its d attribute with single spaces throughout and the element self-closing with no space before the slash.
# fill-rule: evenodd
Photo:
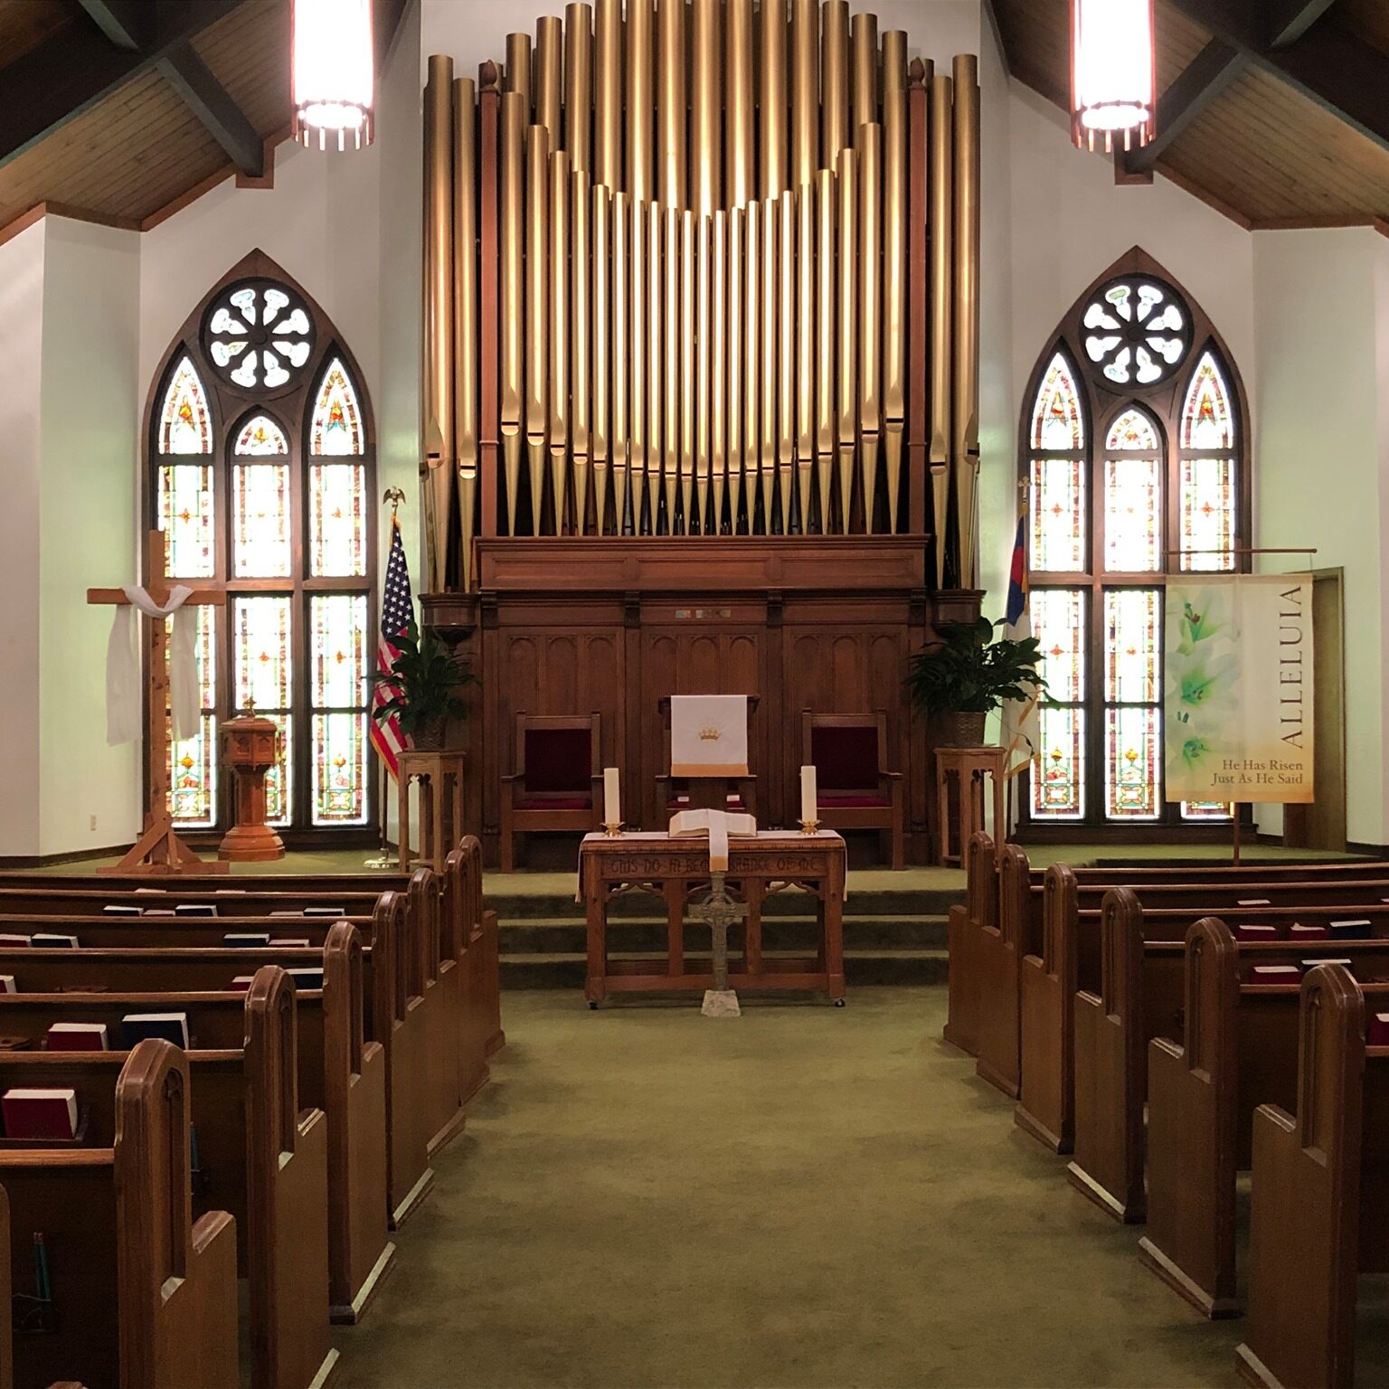
<svg viewBox="0 0 1389 1389">
<path fill-rule="evenodd" d="M 290 29 L 294 139 L 321 150 L 371 144 L 371 0 L 293 0 Z"/>
</svg>

